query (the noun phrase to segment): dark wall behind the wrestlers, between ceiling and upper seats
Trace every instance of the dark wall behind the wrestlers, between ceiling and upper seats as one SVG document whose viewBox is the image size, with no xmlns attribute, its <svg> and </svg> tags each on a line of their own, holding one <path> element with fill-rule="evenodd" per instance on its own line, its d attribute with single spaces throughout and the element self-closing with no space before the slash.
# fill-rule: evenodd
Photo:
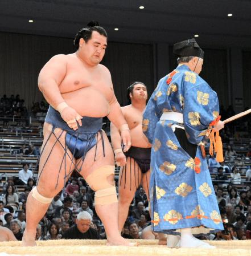
<svg viewBox="0 0 251 256">
<path fill-rule="evenodd" d="M 161 78 L 158 68 L 162 66 L 163 76 L 176 67 L 172 47 L 168 44 L 166 46 L 166 52 L 156 54 L 158 45 L 154 43 L 109 42 L 102 63 L 112 74 L 114 91 L 122 105 L 127 104 L 126 88 L 131 82 L 138 80 L 146 83 L 151 94 Z M 200 75 L 217 92 L 220 104 L 225 107 L 239 104 L 240 111 L 250 107 L 251 51 L 233 51 L 234 54 L 240 52 L 238 58 L 229 57 L 232 56 L 229 48 L 204 48 L 204 51 L 204 65 Z M 0 32 L 0 96 L 19 94 L 25 99 L 27 107 L 31 107 L 33 101 L 43 99 L 37 86 L 40 69 L 52 56 L 71 52 L 73 46 L 69 38 Z M 162 53 L 166 58 L 163 58 Z M 237 73 L 234 73 L 234 67 L 238 67 Z M 241 104 L 235 96 L 241 99 Z"/>
</svg>

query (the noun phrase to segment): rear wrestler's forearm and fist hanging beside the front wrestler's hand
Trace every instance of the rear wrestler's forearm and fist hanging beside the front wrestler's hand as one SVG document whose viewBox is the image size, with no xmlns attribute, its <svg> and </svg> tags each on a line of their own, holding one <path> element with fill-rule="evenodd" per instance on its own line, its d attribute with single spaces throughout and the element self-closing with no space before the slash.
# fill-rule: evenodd
<svg viewBox="0 0 251 256">
<path fill-rule="evenodd" d="M 120 131 L 118 131 L 117 127 L 113 123 L 110 123 L 110 137 L 112 140 L 112 146 L 115 153 L 116 164 L 124 166 L 126 164 L 126 157 L 121 148 L 122 139 L 120 136 Z"/>
</svg>

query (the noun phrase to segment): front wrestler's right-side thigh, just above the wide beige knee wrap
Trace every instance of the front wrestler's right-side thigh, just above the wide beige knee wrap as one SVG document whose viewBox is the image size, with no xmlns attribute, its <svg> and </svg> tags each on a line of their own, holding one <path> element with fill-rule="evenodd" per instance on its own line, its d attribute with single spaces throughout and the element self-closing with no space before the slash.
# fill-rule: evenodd
<svg viewBox="0 0 251 256">
<path fill-rule="evenodd" d="M 104 151 L 100 134 L 98 134 L 97 145 L 92 147 L 87 155 L 85 156 L 84 162 L 82 159 L 76 161 L 77 167 L 81 168 L 81 176 L 86 178 L 93 170 L 96 170 L 104 165 L 114 165 L 114 154 L 108 137 L 105 132 L 102 131 L 102 136 L 104 139 Z M 97 147 L 97 148 L 96 148 Z M 96 153 L 96 156 L 95 156 Z"/>
</svg>

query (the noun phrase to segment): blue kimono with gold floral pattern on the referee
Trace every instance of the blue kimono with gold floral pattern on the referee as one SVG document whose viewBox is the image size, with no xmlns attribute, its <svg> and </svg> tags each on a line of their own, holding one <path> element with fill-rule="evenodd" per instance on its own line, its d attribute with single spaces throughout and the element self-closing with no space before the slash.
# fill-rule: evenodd
<svg viewBox="0 0 251 256">
<path fill-rule="evenodd" d="M 205 131 L 219 116 L 217 94 L 186 65 L 164 76 L 143 114 L 143 132 L 151 149 L 150 208 L 154 232 L 177 234 L 194 227 L 203 234 L 223 229 L 215 192 L 198 145 L 195 159 L 182 147 L 172 130 L 175 121 L 163 120 L 164 112 L 183 114 L 187 139 L 203 141 Z"/>
</svg>

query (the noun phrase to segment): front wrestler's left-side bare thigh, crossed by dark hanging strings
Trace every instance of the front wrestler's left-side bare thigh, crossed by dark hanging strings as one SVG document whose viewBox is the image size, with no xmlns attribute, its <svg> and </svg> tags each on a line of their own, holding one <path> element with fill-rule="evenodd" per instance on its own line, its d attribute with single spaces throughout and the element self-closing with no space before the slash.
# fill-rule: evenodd
<svg viewBox="0 0 251 256">
<path fill-rule="evenodd" d="M 48 197 L 63 189 L 65 176 L 75 166 L 72 163 L 71 152 L 68 150 L 68 155 L 65 155 L 65 132 L 56 128 L 51 134 L 51 129 L 51 124 L 44 123 L 44 141 L 39 161 L 37 184 L 39 192 Z"/>
</svg>

